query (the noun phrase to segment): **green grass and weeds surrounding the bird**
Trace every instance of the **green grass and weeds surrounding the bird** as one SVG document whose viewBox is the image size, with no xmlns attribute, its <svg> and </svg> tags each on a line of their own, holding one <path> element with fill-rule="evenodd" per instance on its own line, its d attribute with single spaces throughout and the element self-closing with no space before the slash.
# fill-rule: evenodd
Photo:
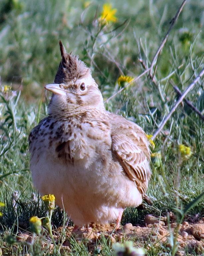
<svg viewBox="0 0 204 256">
<path fill-rule="evenodd" d="M 125 116 L 153 134 L 178 99 L 172 84 L 181 91 L 203 68 L 204 33 L 202 2 L 187 1 L 175 28 L 161 52 L 155 81 L 147 75 L 108 98 L 121 86 L 121 74 L 136 77 L 144 71 L 139 59 L 149 67 L 169 28 L 169 21 L 181 1 L 111 1 L 117 8 L 116 23 L 101 27 L 97 19 L 104 1 L 93 1 L 85 8 L 84 1 L 14 1 L 0 3 L 0 255 L 89 255 L 89 241 L 70 239 L 71 251 L 63 252 L 63 236 L 72 222 L 63 210 L 53 213 L 53 227 L 62 227 L 62 239 L 49 251 L 42 241 L 50 240 L 46 229 L 32 246 L 10 245 L 8 235 L 16 237 L 29 228 L 30 217 L 46 216 L 46 209 L 33 188 L 29 172 L 27 138 L 31 129 L 47 114 L 48 98 L 41 97 L 43 85 L 54 80 L 60 61 L 58 40 L 91 67 L 106 101 L 107 110 Z M 9 87 L 11 88 L 9 89 Z M 203 113 L 203 79 L 187 95 Z M 42 99 L 42 100 L 41 100 Z M 191 220 L 204 216 L 204 200 L 190 205 L 204 191 L 202 120 L 185 103 L 180 105 L 155 140 L 153 152 L 161 151 L 162 166 L 152 164 L 152 179 L 147 191 L 152 205 L 143 209 L 126 209 L 122 224 L 143 224 L 144 216 L 167 216 Z M 178 145 L 189 146 L 192 155 L 183 160 Z M 166 178 L 165 178 L 166 177 Z M 165 181 L 166 179 L 166 181 Z M 186 212 L 184 209 L 189 208 Z M 186 209 L 187 209 L 186 208 Z M 138 240 L 134 241 L 139 244 Z M 100 250 L 93 254 L 109 255 L 112 242 L 97 240 Z M 174 255 L 172 247 L 154 247 L 143 243 L 147 255 Z M 97 251 L 98 250 L 98 251 Z M 186 251 L 186 255 L 197 255 Z"/>
</svg>

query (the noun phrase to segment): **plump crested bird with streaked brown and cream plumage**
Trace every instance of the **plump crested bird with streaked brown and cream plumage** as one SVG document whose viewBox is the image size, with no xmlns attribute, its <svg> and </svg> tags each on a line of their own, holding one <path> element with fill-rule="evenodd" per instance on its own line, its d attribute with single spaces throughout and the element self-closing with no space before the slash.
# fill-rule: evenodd
<svg viewBox="0 0 204 256">
<path fill-rule="evenodd" d="M 54 194 L 75 227 L 116 222 L 137 207 L 151 177 L 143 129 L 107 111 L 91 69 L 61 41 L 48 116 L 29 135 L 30 170 L 41 195 Z"/>
</svg>

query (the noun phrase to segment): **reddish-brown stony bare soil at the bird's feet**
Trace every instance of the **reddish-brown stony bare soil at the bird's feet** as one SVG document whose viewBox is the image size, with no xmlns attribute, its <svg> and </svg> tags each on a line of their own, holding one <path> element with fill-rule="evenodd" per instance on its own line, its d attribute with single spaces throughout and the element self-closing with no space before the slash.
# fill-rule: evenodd
<svg viewBox="0 0 204 256">
<path fill-rule="evenodd" d="M 175 229 L 178 228 L 177 242 L 179 243 L 178 255 L 185 255 L 185 250 L 189 252 L 196 251 L 202 253 L 204 250 L 204 218 L 201 218 L 197 223 L 184 221 L 179 227 L 176 222 L 167 225 L 165 219 L 159 219 L 152 215 L 145 217 L 145 226 L 133 226 L 127 223 L 121 226 L 118 230 L 114 230 L 115 224 L 106 225 L 90 225 L 88 228 L 79 228 L 73 232 L 73 227 L 67 228 L 67 239 L 63 244 L 62 250 L 70 251 L 71 243 L 69 238 L 74 237 L 79 243 L 86 242 L 91 254 L 96 255 L 96 247 L 100 250 L 100 245 L 97 239 L 104 236 L 110 242 L 123 242 L 124 240 L 133 240 L 137 246 L 143 246 L 145 243 L 153 246 L 171 247 L 170 235 L 175 235 Z M 54 231 L 55 234 L 60 234 L 62 228 Z M 18 240 L 30 241 L 31 236 L 21 234 Z M 56 235 L 58 240 L 58 235 Z M 98 245 L 97 245 L 98 244 Z M 97 245 L 97 246 L 96 246 Z"/>
</svg>

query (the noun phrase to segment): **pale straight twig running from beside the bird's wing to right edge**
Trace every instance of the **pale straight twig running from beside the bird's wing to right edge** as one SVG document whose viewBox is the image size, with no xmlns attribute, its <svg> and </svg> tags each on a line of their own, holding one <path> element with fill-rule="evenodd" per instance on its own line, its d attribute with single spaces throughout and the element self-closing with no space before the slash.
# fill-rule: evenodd
<svg viewBox="0 0 204 256">
<path fill-rule="evenodd" d="M 168 121 L 168 119 L 171 117 L 171 115 L 173 114 L 173 112 L 176 110 L 176 108 L 178 107 L 178 105 L 181 103 L 181 101 L 185 98 L 185 96 L 187 95 L 187 93 L 193 88 L 193 86 L 198 82 L 198 80 L 203 76 L 204 74 L 204 68 L 201 70 L 200 74 L 196 77 L 196 79 L 188 86 L 188 88 L 184 91 L 184 93 L 182 94 L 182 96 L 179 98 L 179 100 L 176 102 L 176 104 L 173 106 L 173 108 L 171 109 L 171 111 L 168 113 L 168 115 L 166 116 L 166 118 L 161 122 L 161 125 L 159 126 L 159 128 L 156 130 L 156 132 L 154 133 L 154 135 L 152 136 L 152 140 L 154 140 L 156 138 L 156 136 L 160 133 L 161 129 L 164 127 L 165 123 Z"/>
</svg>

